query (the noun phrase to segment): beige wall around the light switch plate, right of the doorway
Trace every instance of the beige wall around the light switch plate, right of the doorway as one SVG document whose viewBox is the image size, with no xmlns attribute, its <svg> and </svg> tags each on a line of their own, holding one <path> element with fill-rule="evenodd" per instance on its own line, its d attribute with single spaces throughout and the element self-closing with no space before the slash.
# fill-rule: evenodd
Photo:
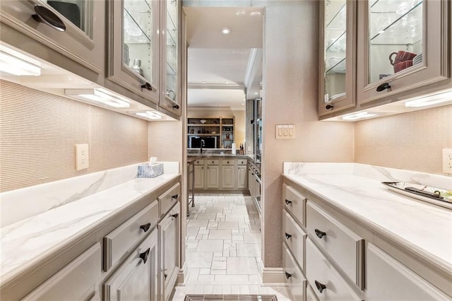
<svg viewBox="0 0 452 301">
<path fill-rule="evenodd" d="M 283 163 L 352 162 L 354 124 L 319 122 L 319 1 L 267 1 L 263 64 L 263 264 L 282 266 Z M 282 20 L 284 20 L 282 22 Z M 295 124 L 276 140 L 276 124 Z"/>
</svg>

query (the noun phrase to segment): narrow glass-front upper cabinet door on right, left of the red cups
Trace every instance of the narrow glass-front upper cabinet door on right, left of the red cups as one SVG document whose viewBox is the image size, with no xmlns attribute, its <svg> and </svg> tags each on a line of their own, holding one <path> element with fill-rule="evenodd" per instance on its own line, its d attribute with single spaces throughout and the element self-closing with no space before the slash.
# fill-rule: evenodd
<svg viewBox="0 0 452 301">
<path fill-rule="evenodd" d="M 354 0 L 321 5 L 320 116 L 355 107 L 355 16 Z"/>
</svg>

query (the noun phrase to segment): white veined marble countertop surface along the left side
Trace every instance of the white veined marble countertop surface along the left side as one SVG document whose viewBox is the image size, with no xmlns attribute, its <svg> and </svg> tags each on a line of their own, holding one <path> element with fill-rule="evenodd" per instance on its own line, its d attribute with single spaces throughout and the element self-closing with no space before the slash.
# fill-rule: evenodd
<svg viewBox="0 0 452 301">
<path fill-rule="evenodd" d="M 48 254 L 102 225 L 114 214 L 177 177 L 179 173 L 174 172 L 155 178 L 127 179 L 0 228 L 0 284 L 27 271 Z"/>
</svg>

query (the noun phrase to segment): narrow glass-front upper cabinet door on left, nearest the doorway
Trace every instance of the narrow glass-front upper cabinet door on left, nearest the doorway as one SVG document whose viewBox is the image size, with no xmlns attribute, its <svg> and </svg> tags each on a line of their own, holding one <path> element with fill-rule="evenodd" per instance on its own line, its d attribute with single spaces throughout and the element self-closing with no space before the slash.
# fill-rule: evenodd
<svg viewBox="0 0 452 301">
<path fill-rule="evenodd" d="M 179 47 L 180 47 L 180 31 L 179 18 L 181 16 L 182 6 L 177 0 L 162 1 L 164 8 L 162 9 L 162 28 L 164 28 L 162 45 L 162 95 L 160 98 L 160 106 L 180 115 L 182 112 L 180 107 L 180 76 L 179 66 Z"/>
</svg>

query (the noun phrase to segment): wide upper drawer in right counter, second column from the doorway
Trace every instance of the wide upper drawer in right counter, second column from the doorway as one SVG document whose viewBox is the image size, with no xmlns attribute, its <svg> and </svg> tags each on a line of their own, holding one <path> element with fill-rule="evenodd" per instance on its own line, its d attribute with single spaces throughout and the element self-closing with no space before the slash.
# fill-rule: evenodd
<svg viewBox="0 0 452 301">
<path fill-rule="evenodd" d="M 364 240 L 335 220 L 311 201 L 307 202 L 307 231 L 309 237 L 343 269 L 359 288 L 363 288 L 362 260 Z"/>
</svg>

